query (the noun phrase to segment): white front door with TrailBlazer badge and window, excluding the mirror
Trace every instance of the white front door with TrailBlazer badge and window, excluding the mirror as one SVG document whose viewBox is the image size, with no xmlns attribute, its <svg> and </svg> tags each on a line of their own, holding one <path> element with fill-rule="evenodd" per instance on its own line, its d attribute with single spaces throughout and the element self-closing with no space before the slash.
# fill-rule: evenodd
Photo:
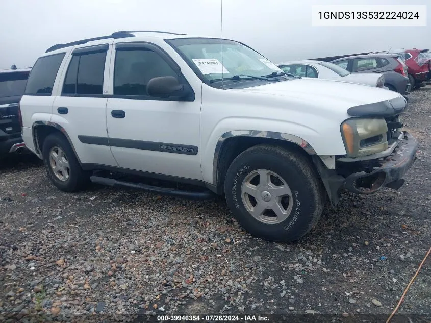
<svg viewBox="0 0 431 323">
<path fill-rule="evenodd" d="M 150 79 L 173 76 L 178 66 L 159 47 L 117 43 L 112 53 L 106 110 L 108 140 L 121 168 L 202 179 L 200 170 L 200 88 L 194 101 L 155 98 Z"/>
</svg>

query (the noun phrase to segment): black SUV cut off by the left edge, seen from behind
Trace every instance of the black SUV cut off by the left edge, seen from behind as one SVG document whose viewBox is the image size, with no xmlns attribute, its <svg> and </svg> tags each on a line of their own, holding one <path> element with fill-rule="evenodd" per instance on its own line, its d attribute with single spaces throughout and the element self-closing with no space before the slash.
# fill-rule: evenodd
<svg viewBox="0 0 431 323">
<path fill-rule="evenodd" d="M 25 145 L 21 138 L 18 104 L 26 88 L 31 68 L 0 70 L 0 157 L 21 153 Z"/>
</svg>

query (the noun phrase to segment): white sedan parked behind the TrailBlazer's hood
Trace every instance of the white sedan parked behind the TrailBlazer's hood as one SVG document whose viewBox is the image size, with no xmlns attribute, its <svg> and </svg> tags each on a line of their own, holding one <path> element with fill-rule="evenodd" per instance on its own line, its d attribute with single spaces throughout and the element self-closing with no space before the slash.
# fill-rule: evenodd
<svg viewBox="0 0 431 323">
<path fill-rule="evenodd" d="M 298 77 L 337 80 L 382 88 L 385 84 L 385 76 L 381 73 L 350 73 L 329 62 L 302 60 L 284 62 L 277 66 L 284 72 Z"/>
</svg>

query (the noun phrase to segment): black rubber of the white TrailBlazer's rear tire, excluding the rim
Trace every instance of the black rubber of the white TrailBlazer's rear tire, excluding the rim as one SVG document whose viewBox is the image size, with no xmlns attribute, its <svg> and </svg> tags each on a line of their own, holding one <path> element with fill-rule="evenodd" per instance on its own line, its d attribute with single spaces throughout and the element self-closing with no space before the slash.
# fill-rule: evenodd
<svg viewBox="0 0 431 323">
<path fill-rule="evenodd" d="M 68 173 L 67 180 L 62 181 L 58 179 L 53 171 L 53 168 L 51 167 L 49 154 L 53 147 L 61 148 L 69 163 L 70 171 Z M 43 141 L 42 156 L 43 164 L 50 180 L 61 191 L 76 192 L 85 188 L 85 186 L 90 182 L 89 172 L 86 172 L 81 168 L 78 159 L 72 150 L 72 147 L 64 135 L 60 133 L 48 135 Z"/>
</svg>

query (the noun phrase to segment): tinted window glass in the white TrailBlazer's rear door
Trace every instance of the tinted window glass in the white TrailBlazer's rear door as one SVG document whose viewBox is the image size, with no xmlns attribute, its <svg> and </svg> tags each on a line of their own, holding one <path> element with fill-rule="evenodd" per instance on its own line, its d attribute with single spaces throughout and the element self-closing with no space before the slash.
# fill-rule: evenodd
<svg viewBox="0 0 431 323">
<path fill-rule="evenodd" d="M 62 94 L 103 94 L 106 52 L 73 55 Z"/>
</svg>

